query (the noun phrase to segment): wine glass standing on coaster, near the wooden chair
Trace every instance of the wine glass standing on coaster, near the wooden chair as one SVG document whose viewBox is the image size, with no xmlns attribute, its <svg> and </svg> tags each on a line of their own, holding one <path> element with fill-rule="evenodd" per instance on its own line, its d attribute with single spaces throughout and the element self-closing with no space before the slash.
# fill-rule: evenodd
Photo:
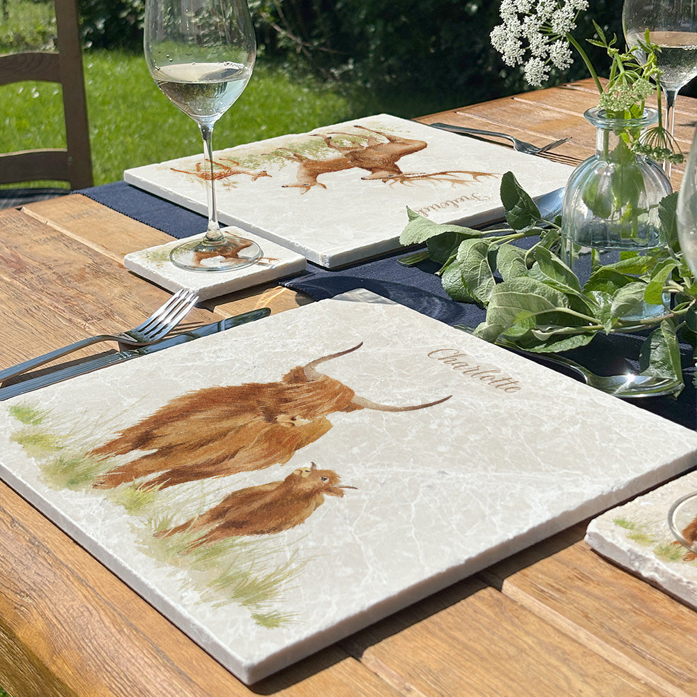
<svg viewBox="0 0 697 697">
<path fill-rule="evenodd" d="M 208 193 L 204 236 L 171 250 L 193 271 L 229 271 L 261 256 L 259 245 L 220 229 L 215 202 L 213 125 L 252 77 L 256 38 L 246 0 L 146 0 L 145 59 L 155 84 L 191 116 L 204 139 L 201 176 Z"/>
</svg>

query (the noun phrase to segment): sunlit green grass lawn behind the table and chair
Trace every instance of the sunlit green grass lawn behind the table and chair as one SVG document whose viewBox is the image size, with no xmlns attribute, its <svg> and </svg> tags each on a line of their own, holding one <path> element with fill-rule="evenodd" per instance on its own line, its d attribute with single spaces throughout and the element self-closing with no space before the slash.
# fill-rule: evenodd
<svg viewBox="0 0 697 697">
<path fill-rule="evenodd" d="M 95 184 L 117 181 L 129 167 L 201 151 L 197 125 L 160 93 L 143 56 L 87 52 L 84 72 Z M 55 84 L 2 86 L 0 104 L 0 152 L 64 146 L 61 95 Z M 215 125 L 214 148 L 383 111 L 418 116 L 438 108 L 420 104 L 413 95 L 388 98 L 345 86 L 339 90 L 309 76 L 293 79 L 259 60 L 243 95 Z"/>
</svg>

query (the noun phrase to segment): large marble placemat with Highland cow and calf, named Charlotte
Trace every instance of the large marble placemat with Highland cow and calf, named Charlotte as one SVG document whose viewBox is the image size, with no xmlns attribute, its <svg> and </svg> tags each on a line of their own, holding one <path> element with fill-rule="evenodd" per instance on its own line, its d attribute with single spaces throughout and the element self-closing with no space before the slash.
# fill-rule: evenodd
<svg viewBox="0 0 697 697">
<path fill-rule="evenodd" d="M 692 431 L 351 298 L 0 406 L 3 480 L 245 682 L 696 461 Z"/>
</svg>

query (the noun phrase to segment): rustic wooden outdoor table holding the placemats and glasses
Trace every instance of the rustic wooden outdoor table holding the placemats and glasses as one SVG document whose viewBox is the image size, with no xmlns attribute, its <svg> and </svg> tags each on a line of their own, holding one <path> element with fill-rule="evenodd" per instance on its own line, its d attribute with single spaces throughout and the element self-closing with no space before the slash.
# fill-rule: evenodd
<svg viewBox="0 0 697 697">
<path fill-rule="evenodd" d="M 590 81 L 420 121 L 500 127 L 585 158 Z M 679 98 L 689 150 L 697 100 Z M 673 183 L 680 181 L 676 168 Z M 123 254 L 169 239 L 75 194 L 0 213 L 0 367 L 132 326 L 167 296 Z M 206 302 L 206 323 L 309 302 L 265 286 Z M 88 351 L 84 355 L 88 355 Z M 0 684 L 13 697 L 694 696 L 697 613 L 606 562 L 579 525 L 252 686 L 0 483 Z"/>
</svg>

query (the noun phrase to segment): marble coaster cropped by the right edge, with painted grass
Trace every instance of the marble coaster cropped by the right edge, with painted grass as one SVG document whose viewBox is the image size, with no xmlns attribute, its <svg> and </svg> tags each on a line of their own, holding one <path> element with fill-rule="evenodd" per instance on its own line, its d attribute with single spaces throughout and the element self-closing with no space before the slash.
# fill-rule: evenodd
<svg viewBox="0 0 697 697">
<path fill-rule="evenodd" d="M 697 491 L 691 472 L 591 521 L 585 541 L 602 556 L 697 609 L 697 561 L 668 527 L 671 505 Z M 677 527 L 697 519 L 697 499 L 685 505 Z"/>
</svg>

